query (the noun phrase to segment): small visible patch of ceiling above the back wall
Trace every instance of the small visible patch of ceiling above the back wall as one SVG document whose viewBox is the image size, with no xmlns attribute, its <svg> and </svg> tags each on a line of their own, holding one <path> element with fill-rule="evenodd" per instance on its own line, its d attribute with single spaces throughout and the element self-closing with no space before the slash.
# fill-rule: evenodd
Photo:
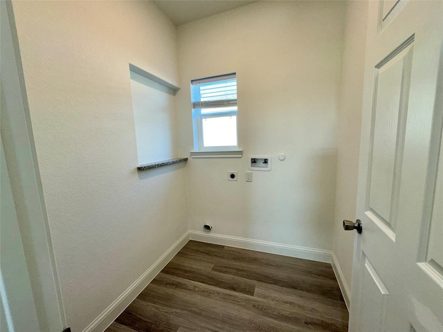
<svg viewBox="0 0 443 332">
<path fill-rule="evenodd" d="M 257 1 L 156 0 L 152 1 L 176 26 L 226 12 Z"/>
</svg>

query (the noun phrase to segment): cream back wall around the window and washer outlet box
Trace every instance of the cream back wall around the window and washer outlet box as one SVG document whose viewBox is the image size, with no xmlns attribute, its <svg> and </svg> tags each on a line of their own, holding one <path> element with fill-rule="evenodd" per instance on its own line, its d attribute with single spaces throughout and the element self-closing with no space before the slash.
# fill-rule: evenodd
<svg viewBox="0 0 443 332">
<path fill-rule="evenodd" d="M 332 248 L 344 15 L 342 1 L 261 1 L 178 27 L 181 154 L 193 146 L 190 80 L 234 71 L 244 151 L 188 161 L 190 229 Z M 271 172 L 246 183 L 248 155 L 271 156 Z"/>
</svg>

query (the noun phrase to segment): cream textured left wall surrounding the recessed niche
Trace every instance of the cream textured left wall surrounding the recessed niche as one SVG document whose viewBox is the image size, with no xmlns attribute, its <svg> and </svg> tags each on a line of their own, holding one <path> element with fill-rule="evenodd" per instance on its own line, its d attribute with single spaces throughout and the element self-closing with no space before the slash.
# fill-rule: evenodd
<svg viewBox="0 0 443 332">
<path fill-rule="evenodd" d="M 82 331 L 186 232 L 183 164 L 136 172 L 129 63 L 177 84 L 147 1 L 13 3 L 57 270 Z"/>
</svg>

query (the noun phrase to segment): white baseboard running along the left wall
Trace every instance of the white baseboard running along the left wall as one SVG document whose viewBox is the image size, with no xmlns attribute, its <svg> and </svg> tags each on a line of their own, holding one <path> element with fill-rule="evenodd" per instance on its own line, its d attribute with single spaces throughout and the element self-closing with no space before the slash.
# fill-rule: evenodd
<svg viewBox="0 0 443 332">
<path fill-rule="evenodd" d="M 131 304 L 138 294 L 152 282 L 152 279 L 160 273 L 161 270 L 169 263 L 169 261 L 177 255 L 177 252 L 183 248 L 189 241 L 189 232 L 183 234 L 159 259 L 148 268 L 143 275 L 138 277 L 136 281 L 123 292 L 122 295 L 109 305 L 91 324 L 87 326 L 83 332 L 102 332 L 111 325 L 114 320 L 123 313 L 125 308 Z"/>
</svg>

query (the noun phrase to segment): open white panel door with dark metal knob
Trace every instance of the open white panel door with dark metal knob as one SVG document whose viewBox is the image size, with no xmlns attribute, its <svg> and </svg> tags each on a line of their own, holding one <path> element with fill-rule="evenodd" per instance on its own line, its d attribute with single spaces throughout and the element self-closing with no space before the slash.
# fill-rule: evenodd
<svg viewBox="0 0 443 332">
<path fill-rule="evenodd" d="M 370 1 L 350 331 L 443 331 L 443 1 Z"/>
</svg>

